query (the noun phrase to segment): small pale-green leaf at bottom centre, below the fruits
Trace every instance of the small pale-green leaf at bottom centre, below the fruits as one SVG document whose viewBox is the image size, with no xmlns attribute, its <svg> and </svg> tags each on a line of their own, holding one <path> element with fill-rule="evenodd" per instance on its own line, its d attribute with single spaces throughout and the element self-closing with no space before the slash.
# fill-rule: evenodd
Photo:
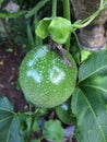
<svg viewBox="0 0 107 142">
<path fill-rule="evenodd" d="M 62 142 L 63 141 L 63 128 L 59 120 L 46 121 L 43 130 L 43 135 L 49 142 Z"/>
</svg>

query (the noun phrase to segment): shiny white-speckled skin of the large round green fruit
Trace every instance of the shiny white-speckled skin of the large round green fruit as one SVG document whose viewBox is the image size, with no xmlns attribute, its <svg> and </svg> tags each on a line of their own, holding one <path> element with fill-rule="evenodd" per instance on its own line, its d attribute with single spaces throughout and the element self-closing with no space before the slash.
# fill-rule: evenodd
<svg viewBox="0 0 107 142">
<path fill-rule="evenodd" d="M 25 56 L 20 67 L 20 83 L 28 103 L 52 108 L 71 96 L 75 87 L 76 64 L 69 52 L 67 56 L 72 68 L 48 45 L 36 47 Z"/>
</svg>

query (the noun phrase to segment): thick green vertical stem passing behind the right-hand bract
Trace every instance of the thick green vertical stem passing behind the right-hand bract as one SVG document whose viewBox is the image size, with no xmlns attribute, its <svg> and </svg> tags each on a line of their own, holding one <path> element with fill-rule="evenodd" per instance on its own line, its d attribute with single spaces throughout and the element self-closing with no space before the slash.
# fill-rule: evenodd
<svg viewBox="0 0 107 142">
<path fill-rule="evenodd" d="M 69 21 L 71 21 L 71 16 L 70 16 L 70 0 L 63 0 L 63 16 L 67 19 L 67 20 L 69 20 Z M 66 49 L 69 51 L 70 50 L 70 36 L 71 35 L 69 35 L 69 38 L 68 38 L 68 40 L 67 40 L 67 43 L 66 43 Z"/>
</svg>

